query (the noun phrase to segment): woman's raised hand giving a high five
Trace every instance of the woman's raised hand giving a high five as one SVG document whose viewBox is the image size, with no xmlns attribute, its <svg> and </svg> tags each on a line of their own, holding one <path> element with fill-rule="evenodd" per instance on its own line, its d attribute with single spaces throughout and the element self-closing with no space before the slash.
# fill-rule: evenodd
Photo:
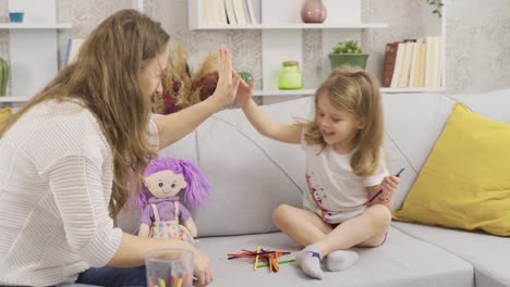
<svg viewBox="0 0 510 287">
<path fill-rule="evenodd" d="M 232 67 L 232 54 L 224 45 L 221 45 L 218 49 L 218 85 L 211 97 L 219 100 L 221 105 L 232 103 L 240 80 L 241 77 Z"/>
</svg>

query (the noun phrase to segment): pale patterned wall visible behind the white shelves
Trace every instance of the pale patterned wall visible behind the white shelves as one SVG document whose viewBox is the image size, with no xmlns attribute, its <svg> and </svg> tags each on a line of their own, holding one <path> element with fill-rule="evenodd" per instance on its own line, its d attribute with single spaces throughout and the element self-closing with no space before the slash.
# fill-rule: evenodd
<svg viewBox="0 0 510 287">
<path fill-rule="evenodd" d="M 296 0 L 300 1 L 301 0 Z M 510 83 L 510 1 L 447 0 L 447 84 L 457 91 L 486 91 L 508 87 Z M 278 1 L 275 1 L 277 3 Z M 380 74 L 384 45 L 388 41 L 420 35 L 425 28 L 413 24 L 416 11 L 426 0 L 363 0 L 365 22 L 388 23 L 387 29 L 364 33 L 365 50 L 371 52 L 368 70 Z M 109 14 L 132 4 L 131 0 L 58 0 L 58 18 L 71 22 L 73 28 L 59 33 L 60 60 L 63 60 L 66 39 L 86 36 Z M 239 71 L 251 71 L 262 77 L 260 32 L 190 32 L 186 0 L 145 0 L 146 12 L 170 32 L 174 43 L 190 52 L 192 64 L 202 61 L 221 42 L 235 57 Z M 476 13 L 475 13 L 476 12 Z M 0 0 L 0 21 L 7 22 L 7 0 Z M 9 35 L 0 30 L 0 57 L 9 59 Z M 321 80 L 321 32 L 303 33 L 305 85 L 314 87 Z M 260 83 L 257 87 L 260 88 Z"/>
</svg>

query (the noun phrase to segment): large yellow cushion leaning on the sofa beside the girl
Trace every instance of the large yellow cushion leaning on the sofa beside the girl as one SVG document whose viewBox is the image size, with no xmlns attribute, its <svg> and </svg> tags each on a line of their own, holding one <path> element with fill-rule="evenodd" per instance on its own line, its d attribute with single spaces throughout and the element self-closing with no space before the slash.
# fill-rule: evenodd
<svg viewBox="0 0 510 287">
<path fill-rule="evenodd" d="M 510 236 L 510 125 L 456 103 L 393 219 Z"/>
</svg>

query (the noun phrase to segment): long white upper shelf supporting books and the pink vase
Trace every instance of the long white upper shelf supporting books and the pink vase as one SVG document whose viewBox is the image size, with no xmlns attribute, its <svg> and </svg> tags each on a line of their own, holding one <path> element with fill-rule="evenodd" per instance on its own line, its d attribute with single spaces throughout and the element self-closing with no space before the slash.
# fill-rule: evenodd
<svg viewBox="0 0 510 287">
<path fill-rule="evenodd" d="M 222 30 L 222 29 L 364 29 L 387 28 L 382 23 L 345 23 L 345 24 L 250 24 L 250 25 L 199 25 L 195 30 Z"/>
</svg>

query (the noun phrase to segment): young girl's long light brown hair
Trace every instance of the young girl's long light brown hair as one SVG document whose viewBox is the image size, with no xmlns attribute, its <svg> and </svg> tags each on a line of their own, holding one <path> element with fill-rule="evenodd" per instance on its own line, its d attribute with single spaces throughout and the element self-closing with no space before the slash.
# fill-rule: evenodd
<svg viewBox="0 0 510 287">
<path fill-rule="evenodd" d="M 333 70 L 320 85 L 315 92 L 315 118 L 304 125 L 304 138 L 306 144 L 320 145 L 324 149 L 327 144 L 317 125 L 319 97 L 328 97 L 333 107 L 353 113 L 362 122 L 363 128 L 353 142 L 356 148 L 351 158 L 351 167 L 359 176 L 374 174 L 381 157 L 384 137 L 382 104 L 377 79 L 364 70 L 341 66 Z"/>
</svg>

